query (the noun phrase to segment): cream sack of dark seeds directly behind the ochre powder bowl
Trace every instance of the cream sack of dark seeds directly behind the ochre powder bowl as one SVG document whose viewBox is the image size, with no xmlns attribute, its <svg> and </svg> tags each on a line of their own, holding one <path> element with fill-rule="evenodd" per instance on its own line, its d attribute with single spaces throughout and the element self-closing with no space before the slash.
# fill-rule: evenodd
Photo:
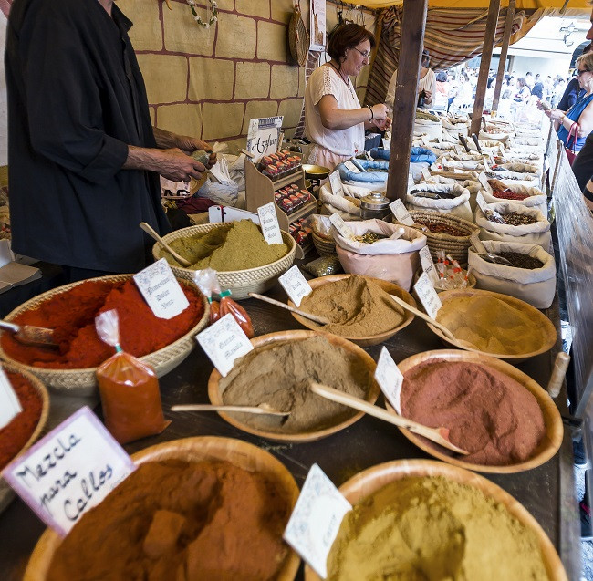
<svg viewBox="0 0 593 581">
<path fill-rule="evenodd" d="M 554 257 L 537 244 L 495 242 L 484 240 L 488 253 L 506 259 L 501 265 L 480 256 L 470 248 L 468 262 L 477 287 L 515 296 L 536 308 L 547 308 L 556 294 L 556 263 Z"/>
</svg>

